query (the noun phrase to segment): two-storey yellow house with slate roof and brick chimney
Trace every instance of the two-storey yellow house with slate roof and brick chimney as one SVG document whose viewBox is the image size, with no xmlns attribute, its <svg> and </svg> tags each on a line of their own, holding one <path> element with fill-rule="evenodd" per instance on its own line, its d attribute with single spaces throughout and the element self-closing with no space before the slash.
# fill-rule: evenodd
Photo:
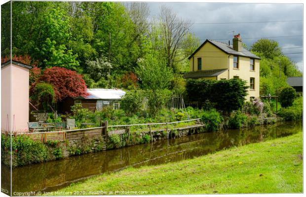
<svg viewBox="0 0 306 197">
<path fill-rule="evenodd" d="M 188 58 L 190 72 L 184 78 L 212 80 L 240 78 L 249 86 L 247 100 L 259 98 L 259 58 L 244 49 L 240 34 L 234 35 L 232 45 L 206 40 Z"/>
</svg>

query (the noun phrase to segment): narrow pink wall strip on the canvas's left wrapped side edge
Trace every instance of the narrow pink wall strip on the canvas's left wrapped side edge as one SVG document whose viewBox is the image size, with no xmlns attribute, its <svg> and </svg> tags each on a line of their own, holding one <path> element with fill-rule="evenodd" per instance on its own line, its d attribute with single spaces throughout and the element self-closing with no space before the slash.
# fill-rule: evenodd
<svg viewBox="0 0 306 197">
<path fill-rule="evenodd" d="M 11 65 L 1 68 L 1 131 L 11 131 Z M 8 117 L 8 118 L 7 118 Z M 8 128 L 8 129 L 7 129 Z"/>
</svg>

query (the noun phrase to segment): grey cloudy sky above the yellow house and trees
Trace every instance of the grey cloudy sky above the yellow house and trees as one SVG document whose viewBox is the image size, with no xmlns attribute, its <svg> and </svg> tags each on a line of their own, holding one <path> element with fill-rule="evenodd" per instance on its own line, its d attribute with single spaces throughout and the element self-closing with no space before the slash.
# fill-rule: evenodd
<svg viewBox="0 0 306 197">
<path fill-rule="evenodd" d="M 283 53 L 295 61 L 303 71 L 303 54 L 301 53 L 303 52 L 301 36 L 303 35 L 303 4 L 195 2 L 148 2 L 148 4 L 152 17 L 158 15 L 161 5 L 166 5 L 179 17 L 191 20 L 193 25 L 190 31 L 195 33 L 201 42 L 206 38 L 228 42 L 232 39 L 232 31 L 235 31 L 235 34 L 240 33 L 242 42 L 248 47 L 261 37 L 274 39 L 279 43 Z M 271 21 L 283 22 L 267 23 Z M 227 22 L 249 23 L 203 24 Z"/>
</svg>

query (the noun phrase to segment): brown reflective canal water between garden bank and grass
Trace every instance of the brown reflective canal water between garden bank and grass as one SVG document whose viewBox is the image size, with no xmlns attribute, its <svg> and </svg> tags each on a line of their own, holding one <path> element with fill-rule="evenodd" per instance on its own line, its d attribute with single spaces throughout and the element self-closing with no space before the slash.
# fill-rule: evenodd
<svg viewBox="0 0 306 197">
<path fill-rule="evenodd" d="M 302 131 L 302 122 L 277 123 L 242 130 L 206 132 L 122 149 L 17 167 L 13 192 L 50 192 L 94 175 L 128 166 L 158 165 L 213 153 L 232 146 L 262 142 Z M 1 185 L 8 188 L 9 168 L 1 164 Z"/>
</svg>

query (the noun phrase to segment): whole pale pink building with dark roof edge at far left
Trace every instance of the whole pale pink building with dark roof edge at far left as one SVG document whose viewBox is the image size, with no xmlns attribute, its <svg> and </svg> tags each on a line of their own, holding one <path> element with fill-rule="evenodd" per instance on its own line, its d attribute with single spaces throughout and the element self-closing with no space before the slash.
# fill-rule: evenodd
<svg viewBox="0 0 306 197">
<path fill-rule="evenodd" d="M 28 132 L 30 69 L 16 61 L 1 64 L 1 131 Z"/>
</svg>

